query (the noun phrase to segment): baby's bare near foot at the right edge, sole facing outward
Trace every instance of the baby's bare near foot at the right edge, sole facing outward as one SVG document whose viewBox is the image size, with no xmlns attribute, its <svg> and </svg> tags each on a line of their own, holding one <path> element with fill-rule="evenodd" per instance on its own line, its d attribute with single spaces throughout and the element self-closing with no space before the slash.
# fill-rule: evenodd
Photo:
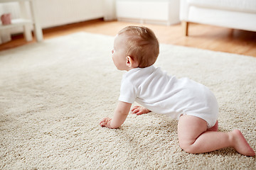
<svg viewBox="0 0 256 170">
<path fill-rule="evenodd" d="M 255 156 L 254 150 L 247 143 L 240 130 L 233 130 L 231 133 L 233 134 L 233 147 L 237 152 L 246 156 Z"/>
</svg>

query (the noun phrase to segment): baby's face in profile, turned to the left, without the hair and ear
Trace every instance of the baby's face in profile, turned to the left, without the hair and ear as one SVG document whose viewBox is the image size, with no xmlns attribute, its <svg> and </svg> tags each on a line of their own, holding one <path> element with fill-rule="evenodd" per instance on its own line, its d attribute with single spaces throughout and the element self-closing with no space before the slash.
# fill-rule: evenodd
<svg viewBox="0 0 256 170">
<path fill-rule="evenodd" d="M 127 70 L 126 65 L 126 35 L 117 35 L 114 38 L 114 49 L 112 50 L 112 60 L 119 70 Z"/>
</svg>

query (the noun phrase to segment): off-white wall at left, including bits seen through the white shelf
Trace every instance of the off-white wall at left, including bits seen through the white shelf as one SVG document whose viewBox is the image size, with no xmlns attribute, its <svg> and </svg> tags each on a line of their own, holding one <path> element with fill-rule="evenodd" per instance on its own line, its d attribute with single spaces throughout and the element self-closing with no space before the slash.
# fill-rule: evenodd
<svg viewBox="0 0 256 170">
<path fill-rule="evenodd" d="M 111 18 L 114 0 L 35 0 L 37 16 L 42 28 L 61 26 L 68 23 Z M 21 18 L 18 2 L 0 3 L 0 16 L 11 13 L 11 18 Z M 26 13 L 31 18 L 31 10 L 26 2 Z M 32 28 L 32 27 L 31 27 Z M 22 27 L 11 28 L 11 33 L 21 33 Z"/>
</svg>

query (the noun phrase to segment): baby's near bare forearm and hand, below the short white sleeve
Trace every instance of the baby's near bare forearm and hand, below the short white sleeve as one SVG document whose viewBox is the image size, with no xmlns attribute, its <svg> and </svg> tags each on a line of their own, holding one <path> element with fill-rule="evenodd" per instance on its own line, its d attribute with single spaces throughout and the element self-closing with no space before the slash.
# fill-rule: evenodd
<svg viewBox="0 0 256 170">
<path fill-rule="evenodd" d="M 107 128 L 119 128 L 120 125 L 124 123 L 124 120 L 127 118 L 127 115 L 129 114 L 130 108 L 132 104 L 131 103 L 125 103 L 122 101 L 119 101 L 117 108 L 114 111 L 114 117 L 111 118 L 103 118 L 100 121 L 100 125 L 102 127 Z"/>
</svg>

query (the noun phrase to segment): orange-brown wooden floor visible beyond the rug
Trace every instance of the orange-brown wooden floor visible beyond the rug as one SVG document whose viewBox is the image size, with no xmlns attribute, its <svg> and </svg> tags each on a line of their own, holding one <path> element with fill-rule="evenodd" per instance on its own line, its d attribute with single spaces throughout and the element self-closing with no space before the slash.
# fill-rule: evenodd
<svg viewBox="0 0 256 170">
<path fill-rule="evenodd" d="M 94 21 L 86 21 L 82 23 L 74 23 L 66 26 L 44 29 L 43 37 L 44 39 L 48 39 L 79 31 L 114 36 L 120 29 L 130 25 L 141 26 L 142 24 L 118 21 L 106 22 L 102 21 L 102 19 L 98 19 Z M 191 23 L 188 28 L 189 35 L 186 37 L 182 34 L 183 31 L 181 24 L 174 26 L 143 24 L 143 26 L 147 26 L 154 30 L 154 33 L 159 38 L 159 42 L 161 43 L 198 47 L 201 49 L 230 52 L 256 57 L 256 32 Z M 0 50 L 7 50 L 35 42 L 35 39 L 31 42 L 26 42 L 23 35 L 15 35 L 12 37 L 11 42 L 6 42 L 0 45 Z"/>
</svg>

